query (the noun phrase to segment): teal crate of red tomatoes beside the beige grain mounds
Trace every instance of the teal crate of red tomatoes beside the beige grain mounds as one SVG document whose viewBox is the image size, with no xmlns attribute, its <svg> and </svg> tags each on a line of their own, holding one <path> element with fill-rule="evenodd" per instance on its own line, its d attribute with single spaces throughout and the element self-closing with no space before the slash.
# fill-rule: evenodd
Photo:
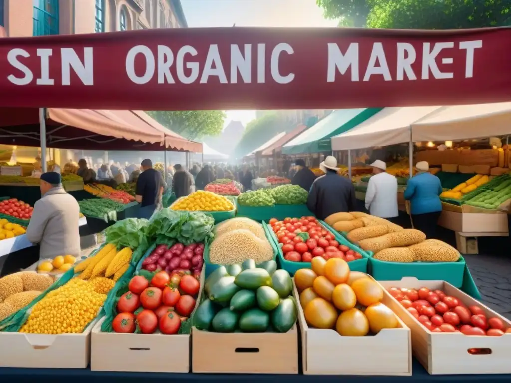
<svg viewBox="0 0 511 383">
<path fill-rule="evenodd" d="M 368 258 L 359 253 L 356 246 L 345 241 L 340 243 L 339 234 L 330 231 L 314 217 L 286 218 L 269 221 L 268 232 L 278 245 L 277 258 L 281 268 L 291 275 L 299 269 L 311 268 L 311 260 L 316 256 L 328 260 L 344 259 L 350 270 L 367 272 Z"/>
</svg>

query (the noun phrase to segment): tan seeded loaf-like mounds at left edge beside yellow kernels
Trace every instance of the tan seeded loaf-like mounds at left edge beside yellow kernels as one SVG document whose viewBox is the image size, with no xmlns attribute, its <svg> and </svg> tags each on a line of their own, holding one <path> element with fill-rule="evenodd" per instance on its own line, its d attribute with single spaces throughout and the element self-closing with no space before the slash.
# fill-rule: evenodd
<svg viewBox="0 0 511 383">
<path fill-rule="evenodd" d="M 49 275 L 22 271 L 0 278 L 0 320 L 32 302 L 53 283 Z"/>
</svg>

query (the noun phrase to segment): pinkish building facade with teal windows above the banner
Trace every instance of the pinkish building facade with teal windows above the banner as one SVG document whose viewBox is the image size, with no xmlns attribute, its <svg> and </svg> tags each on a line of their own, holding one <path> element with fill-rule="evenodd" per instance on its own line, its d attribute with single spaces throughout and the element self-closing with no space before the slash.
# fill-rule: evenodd
<svg viewBox="0 0 511 383">
<path fill-rule="evenodd" d="M 187 28 L 180 0 L 0 0 L 10 37 Z"/>
</svg>

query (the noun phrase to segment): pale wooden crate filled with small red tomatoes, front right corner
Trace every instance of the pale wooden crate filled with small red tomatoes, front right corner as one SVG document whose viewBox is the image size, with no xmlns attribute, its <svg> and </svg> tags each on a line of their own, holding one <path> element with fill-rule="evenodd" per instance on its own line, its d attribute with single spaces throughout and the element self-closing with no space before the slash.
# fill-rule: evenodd
<svg viewBox="0 0 511 383">
<path fill-rule="evenodd" d="M 445 281 L 379 281 L 430 374 L 509 374 L 511 322 Z"/>
</svg>

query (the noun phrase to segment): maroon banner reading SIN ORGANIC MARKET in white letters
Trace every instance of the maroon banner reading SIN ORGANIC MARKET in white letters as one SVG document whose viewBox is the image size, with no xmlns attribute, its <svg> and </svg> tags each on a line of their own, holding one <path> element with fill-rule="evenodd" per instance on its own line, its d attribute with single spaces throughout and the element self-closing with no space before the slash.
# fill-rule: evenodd
<svg viewBox="0 0 511 383">
<path fill-rule="evenodd" d="M 340 109 L 511 100 L 511 29 L 166 29 L 0 39 L 0 107 Z"/>
</svg>

